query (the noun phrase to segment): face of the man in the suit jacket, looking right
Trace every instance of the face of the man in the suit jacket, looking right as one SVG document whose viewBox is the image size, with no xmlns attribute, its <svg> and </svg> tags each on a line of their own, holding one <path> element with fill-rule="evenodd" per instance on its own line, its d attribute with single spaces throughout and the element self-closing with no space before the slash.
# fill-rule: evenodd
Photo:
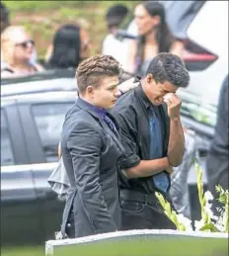
<svg viewBox="0 0 229 256">
<path fill-rule="evenodd" d="M 112 109 L 120 96 L 117 89 L 118 83 L 118 76 L 105 76 L 101 78 L 99 87 L 88 87 L 87 91 L 93 104 L 99 108 Z"/>
</svg>

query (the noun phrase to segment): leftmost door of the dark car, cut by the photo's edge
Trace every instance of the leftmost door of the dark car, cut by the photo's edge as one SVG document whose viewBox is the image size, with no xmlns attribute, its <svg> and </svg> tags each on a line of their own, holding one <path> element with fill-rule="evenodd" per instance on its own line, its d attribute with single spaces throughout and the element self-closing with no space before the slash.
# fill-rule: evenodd
<svg viewBox="0 0 229 256">
<path fill-rule="evenodd" d="M 40 238 L 38 199 L 14 101 L 1 108 L 1 244 Z"/>
</svg>

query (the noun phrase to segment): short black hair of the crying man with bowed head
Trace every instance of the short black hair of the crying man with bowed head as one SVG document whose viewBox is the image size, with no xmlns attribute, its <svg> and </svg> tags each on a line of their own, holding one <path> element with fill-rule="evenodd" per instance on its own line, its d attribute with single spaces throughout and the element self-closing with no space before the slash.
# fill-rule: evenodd
<svg viewBox="0 0 229 256">
<path fill-rule="evenodd" d="M 168 81 L 177 87 L 187 87 L 190 74 L 183 60 L 175 54 L 161 52 L 150 62 L 147 74 L 152 74 L 156 83 Z"/>
</svg>

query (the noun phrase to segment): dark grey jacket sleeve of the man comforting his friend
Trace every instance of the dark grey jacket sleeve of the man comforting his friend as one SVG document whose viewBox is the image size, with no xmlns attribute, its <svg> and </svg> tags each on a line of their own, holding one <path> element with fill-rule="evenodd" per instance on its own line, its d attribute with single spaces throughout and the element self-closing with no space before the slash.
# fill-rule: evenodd
<svg viewBox="0 0 229 256">
<path fill-rule="evenodd" d="M 94 231 L 116 230 L 100 184 L 101 135 L 91 125 L 80 124 L 71 131 L 67 146 L 72 156 L 83 214 L 88 217 Z"/>
</svg>

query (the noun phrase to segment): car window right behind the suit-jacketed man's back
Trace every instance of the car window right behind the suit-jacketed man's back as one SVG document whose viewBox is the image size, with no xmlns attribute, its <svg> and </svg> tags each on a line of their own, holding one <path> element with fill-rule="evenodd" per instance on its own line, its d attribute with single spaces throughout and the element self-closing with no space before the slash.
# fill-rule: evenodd
<svg viewBox="0 0 229 256">
<path fill-rule="evenodd" d="M 58 160 L 57 146 L 64 117 L 73 102 L 32 105 L 32 113 L 47 162 Z"/>
</svg>

